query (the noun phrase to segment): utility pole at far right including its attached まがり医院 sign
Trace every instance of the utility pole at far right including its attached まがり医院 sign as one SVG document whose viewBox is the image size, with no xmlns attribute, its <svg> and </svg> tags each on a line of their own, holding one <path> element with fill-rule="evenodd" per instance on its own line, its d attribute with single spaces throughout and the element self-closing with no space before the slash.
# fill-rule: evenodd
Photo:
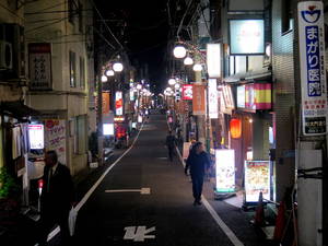
<svg viewBox="0 0 328 246">
<path fill-rule="evenodd" d="M 296 1 L 293 8 L 297 244 L 327 245 L 327 89 L 324 4 Z M 326 235 L 325 235 L 326 234 Z"/>
</svg>

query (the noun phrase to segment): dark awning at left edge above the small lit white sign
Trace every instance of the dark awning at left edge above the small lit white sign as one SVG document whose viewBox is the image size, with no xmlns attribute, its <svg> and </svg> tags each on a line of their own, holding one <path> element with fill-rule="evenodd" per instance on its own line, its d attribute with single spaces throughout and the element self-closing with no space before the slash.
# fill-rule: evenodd
<svg viewBox="0 0 328 246">
<path fill-rule="evenodd" d="M 0 103 L 0 114 L 11 116 L 16 119 L 25 119 L 30 116 L 38 116 L 40 113 L 23 104 L 22 101 Z"/>
</svg>

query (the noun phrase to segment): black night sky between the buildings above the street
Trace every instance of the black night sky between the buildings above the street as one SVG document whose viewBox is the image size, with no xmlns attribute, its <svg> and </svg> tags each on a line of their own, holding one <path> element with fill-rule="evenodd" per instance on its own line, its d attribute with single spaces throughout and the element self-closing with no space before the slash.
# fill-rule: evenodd
<svg viewBox="0 0 328 246">
<path fill-rule="evenodd" d="M 150 82 L 157 87 L 166 83 L 165 56 L 169 31 L 167 0 L 95 2 L 132 63 L 148 63 Z"/>
</svg>

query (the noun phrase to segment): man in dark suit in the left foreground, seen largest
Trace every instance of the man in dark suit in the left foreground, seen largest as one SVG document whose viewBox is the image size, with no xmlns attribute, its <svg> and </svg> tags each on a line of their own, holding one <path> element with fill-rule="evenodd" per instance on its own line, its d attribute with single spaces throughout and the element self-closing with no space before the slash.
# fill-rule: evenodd
<svg viewBox="0 0 328 246">
<path fill-rule="evenodd" d="M 70 171 L 58 162 L 56 151 L 46 153 L 45 163 L 38 245 L 47 245 L 47 236 L 56 224 L 60 227 L 60 245 L 72 245 L 68 218 L 74 202 L 74 189 Z"/>
</svg>

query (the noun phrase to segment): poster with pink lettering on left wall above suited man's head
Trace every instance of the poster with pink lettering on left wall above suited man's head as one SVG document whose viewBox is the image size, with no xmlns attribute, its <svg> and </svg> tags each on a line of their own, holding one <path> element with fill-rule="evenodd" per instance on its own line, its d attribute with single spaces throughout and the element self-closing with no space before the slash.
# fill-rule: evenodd
<svg viewBox="0 0 328 246">
<path fill-rule="evenodd" d="M 58 161 L 67 164 L 66 161 L 66 120 L 46 119 L 45 120 L 46 150 L 55 150 L 58 154 Z"/>
</svg>

